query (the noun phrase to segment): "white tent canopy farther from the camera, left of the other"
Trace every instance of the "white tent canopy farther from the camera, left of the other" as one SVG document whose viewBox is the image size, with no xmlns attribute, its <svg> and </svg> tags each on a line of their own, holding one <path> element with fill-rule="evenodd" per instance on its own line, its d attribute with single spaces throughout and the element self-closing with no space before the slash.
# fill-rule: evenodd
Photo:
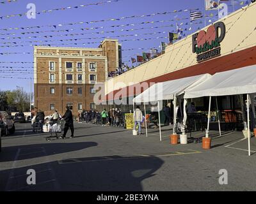
<svg viewBox="0 0 256 204">
<path fill-rule="evenodd" d="M 180 78 L 177 80 L 171 80 L 168 82 L 161 82 L 152 85 L 146 91 L 142 92 L 136 98 L 133 99 L 134 103 L 150 103 L 156 101 L 170 100 L 174 99 L 175 95 L 181 94 L 186 87 L 191 85 L 194 87 L 198 85 L 207 78 L 210 78 L 211 75 L 198 75 L 194 77 Z"/>
</svg>

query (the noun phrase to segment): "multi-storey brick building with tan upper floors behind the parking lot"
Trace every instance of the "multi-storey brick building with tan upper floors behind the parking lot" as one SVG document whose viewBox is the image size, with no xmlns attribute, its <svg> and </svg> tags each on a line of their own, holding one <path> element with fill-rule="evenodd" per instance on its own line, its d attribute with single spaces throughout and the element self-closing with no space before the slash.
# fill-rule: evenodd
<svg viewBox="0 0 256 204">
<path fill-rule="evenodd" d="M 75 115 L 95 108 L 93 85 L 122 63 L 118 40 L 106 39 L 99 48 L 34 48 L 35 107 L 49 115 L 65 106 Z"/>
</svg>

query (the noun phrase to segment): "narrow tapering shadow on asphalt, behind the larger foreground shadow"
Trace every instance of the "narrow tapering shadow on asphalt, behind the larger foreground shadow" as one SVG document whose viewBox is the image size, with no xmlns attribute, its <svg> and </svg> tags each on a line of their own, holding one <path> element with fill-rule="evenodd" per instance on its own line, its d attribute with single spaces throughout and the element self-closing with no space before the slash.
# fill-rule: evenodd
<svg viewBox="0 0 256 204">
<path fill-rule="evenodd" d="M 13 161 L 15 154 L 20 149 L 19 155 L 16 156 L 16 160 L 40 158 L 45 156 L 44 151 L 47 152 L 47 156 L 54 154 L 61 154 L 67 152 L 73 152 L 77 150 L 83 150 L 89 147 L 95 147 L 96 142 L 77 142 L 77 143 L 40 143 L 32 145 L 20 145 L 13 147 L 2 147 L 0 154 L 0 162 Z"/>
</svg>

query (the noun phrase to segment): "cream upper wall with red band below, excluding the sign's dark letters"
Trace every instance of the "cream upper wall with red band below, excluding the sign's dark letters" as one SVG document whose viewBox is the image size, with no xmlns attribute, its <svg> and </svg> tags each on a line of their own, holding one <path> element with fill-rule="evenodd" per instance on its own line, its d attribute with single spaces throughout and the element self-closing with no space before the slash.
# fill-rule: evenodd
<svg viewBox="0 0 256 204">
<path fill-rule="evenodd" d="M 138 93 L 129 90 L 136 90 L 137 87 L 140 89 L 141 84 L 150 85 L 205 73 L 214 75 L 256 64 L 256 29 L 255 22 L 252 22 L 255 13 L 256 3 L 249 4 L 173 45 L 168 45 L 159 57 L 108 80 L 105 83 L 105 100 L 112 102 L 120 98 L 134 98 L 143 90 Z M 196 43 L 200 43 L 198 35 L 201 38 L 209 34 L 210 38 L 214 38 L 212 40 L 217 38 L 221 41 L 217 44 L 214 41 L 212 47 L 209 42 L 210 48 L 205 50 L 204 45 L 202 50 L 195 50 L 199 47 Z M 205 45 L 209 47 L 207 43 Z M 124 91 L 121 92 L 122 89 Z"/>
</svg>

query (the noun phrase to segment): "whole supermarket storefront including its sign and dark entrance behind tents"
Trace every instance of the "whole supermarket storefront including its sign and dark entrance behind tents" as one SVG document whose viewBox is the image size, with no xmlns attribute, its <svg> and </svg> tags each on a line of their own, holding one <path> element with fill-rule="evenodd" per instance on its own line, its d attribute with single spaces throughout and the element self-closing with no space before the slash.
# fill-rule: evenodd
<svg viewBox="0 0 256 204">
<path fill-rule="evenodd" d="M 165 53 L 156 59 L 108 80 L 105 83 L 106 98 L 103 101 L 110 105 L 100 107 L 108 109 L 110 106 L 120 106 L 122 110 L 129 112 L 132 110 L 134 96 L 154 83 L 205 73 L 214 75 L 256 64 L 256 24 L 252 20 L 255 13 L 256 3 L 241 8 L 219 22 L 169 45 Z M 241 123 L 245 99 L 245 96 L 218 97 L 222 122 Z M 207 112 L 209 98 L 192 100 L 198 111 Z M 170 102 L 163 101 L 163 105 Z M 212 120 L 214 115 L 216 113 L 212 111 Z"/>
</svg>

